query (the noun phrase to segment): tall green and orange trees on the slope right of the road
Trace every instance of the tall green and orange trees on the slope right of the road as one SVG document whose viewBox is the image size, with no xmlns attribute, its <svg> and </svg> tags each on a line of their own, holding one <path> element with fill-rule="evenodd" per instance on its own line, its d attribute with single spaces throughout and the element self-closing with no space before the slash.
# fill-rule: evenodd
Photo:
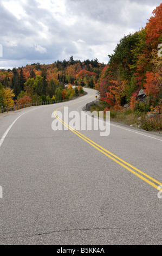
<svg viewBox="0 0 162 256">
<path fill-rule="evenodd" d="M 120 111 L 127 103 L 132 110 L 162 112 L 162 4 L 152 14 L 145 28 L 120 40 L 100 74 L 95 88 L 106 109 Z"/>
</svg>

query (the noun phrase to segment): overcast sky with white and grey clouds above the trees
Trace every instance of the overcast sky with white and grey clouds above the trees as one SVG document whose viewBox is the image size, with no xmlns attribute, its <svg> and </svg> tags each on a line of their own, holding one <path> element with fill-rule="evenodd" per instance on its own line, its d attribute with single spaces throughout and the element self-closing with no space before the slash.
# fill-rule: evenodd
<svg viewBox="0 0 162 256">
<path fill-rule="evenodd" d="M 119 40 L 146 26 L 161 0 L 1 0 L 0 67 L 59 60 L 107 63 Z M 1 46 L 0 45 L 0 46 Z M 3 55 L 3 56 L 2 56 Z"/>
</svg>

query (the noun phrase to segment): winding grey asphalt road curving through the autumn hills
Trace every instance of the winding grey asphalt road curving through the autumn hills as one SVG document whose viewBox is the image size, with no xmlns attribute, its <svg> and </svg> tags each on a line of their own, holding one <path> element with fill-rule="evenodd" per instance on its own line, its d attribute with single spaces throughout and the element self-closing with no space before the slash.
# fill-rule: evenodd
<svg viewBox="0 0 162 256">
<path fill-rule="evenodd" d="M 86 90 L 0 119 L 0 245 L 161 245 L 162 137 L 54 131 L 54 113 L 95 99 Z"/>
</svg>

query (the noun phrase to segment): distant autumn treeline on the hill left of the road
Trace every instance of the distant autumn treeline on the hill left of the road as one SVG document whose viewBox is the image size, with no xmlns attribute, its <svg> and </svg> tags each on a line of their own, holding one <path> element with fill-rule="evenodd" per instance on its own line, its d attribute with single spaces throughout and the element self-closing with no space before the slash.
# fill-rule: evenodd
<svg viewBox="0 0 162 256">
<path fill-rule="evenodd" d="M 0 106 L 30 101 L 69 99 L 94 88 L 104 67 L 98 59 L 57 60 L 50 65 L 33 63 L 22 68 L 0 71 Z M 72 85 L 76 88 L 73 89 Z M 8 98 L 8 100 L 7 100 Z"/>
</svg>

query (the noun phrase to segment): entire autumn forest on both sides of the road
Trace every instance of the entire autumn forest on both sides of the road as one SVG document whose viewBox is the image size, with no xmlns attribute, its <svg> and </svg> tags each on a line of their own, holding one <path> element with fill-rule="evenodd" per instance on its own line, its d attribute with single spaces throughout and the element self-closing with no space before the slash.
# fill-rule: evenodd
<svg viewBox="0 0 162 256">
<path fill-rule="evenodd" d="M 49 65 L 33 63 L 0 70 L 0 107 L 71 99 L 89 87 L 100 92 L 100 106 L 105 111 L 124 112 L 127 106 L 130 111 L 161 114 L 161 17 L 162 3 L 153 10 L 145 28 L 120 39 L 107 64 L 98 59 L 81 62 L 71 56 Z"/>
</svg>

